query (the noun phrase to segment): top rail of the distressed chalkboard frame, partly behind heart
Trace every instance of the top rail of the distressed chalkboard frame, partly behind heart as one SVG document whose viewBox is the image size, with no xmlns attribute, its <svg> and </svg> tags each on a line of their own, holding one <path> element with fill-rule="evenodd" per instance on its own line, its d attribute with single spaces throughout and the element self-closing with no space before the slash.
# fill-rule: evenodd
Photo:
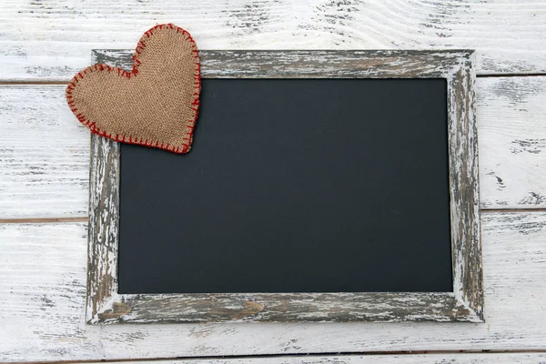
<svg viewBox="0 0 546 364">
<path fill-rule="evenodd" d="M 203 78 L 445 78 L 474 51 L 200 51 Z M 95 49 L 96 62 L 133 67 L 132 50 Z M 474 71 L 474 70 L 472 70 Z M 475 76 L 475 74 L 473 74 Z"/>
</svg>

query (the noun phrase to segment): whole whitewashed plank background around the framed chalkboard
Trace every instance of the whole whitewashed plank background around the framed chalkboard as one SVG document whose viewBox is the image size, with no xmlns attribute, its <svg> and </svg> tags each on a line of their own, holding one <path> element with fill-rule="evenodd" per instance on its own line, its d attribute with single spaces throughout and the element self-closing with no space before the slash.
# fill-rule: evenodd
<svg viewBox="0 0 546 364">
<path fill-rule="evenodd" d="M 65 85 L 167 22 L 201 49 L 476 49 L 487 322 L 86 326 L 89 133 Z M 546 4 L 0 0 L 0 360 L 190 357 L 545 363 Z"/>
</svg>

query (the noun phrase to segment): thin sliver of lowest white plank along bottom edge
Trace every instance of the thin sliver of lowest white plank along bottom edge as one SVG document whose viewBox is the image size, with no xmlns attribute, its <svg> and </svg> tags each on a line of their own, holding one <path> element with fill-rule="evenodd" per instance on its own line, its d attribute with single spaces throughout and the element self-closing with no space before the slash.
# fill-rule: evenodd
<svg viewBox="0 0 546 364">
<path fill-rule="evenodd" d="M 465 353 L 465 354 L 401 354 L 401 355 L 329 355 L 329 356 L 283 356 L 276 358 L 238 358 L 238 359 L 187 359 L 150 360 L 150 364 L 541 364 L 544 353 Z M 138 364 L 127 361 L 126 364 Z M 99 364 L 99 363 L 89 363 Z"/>
</svg>

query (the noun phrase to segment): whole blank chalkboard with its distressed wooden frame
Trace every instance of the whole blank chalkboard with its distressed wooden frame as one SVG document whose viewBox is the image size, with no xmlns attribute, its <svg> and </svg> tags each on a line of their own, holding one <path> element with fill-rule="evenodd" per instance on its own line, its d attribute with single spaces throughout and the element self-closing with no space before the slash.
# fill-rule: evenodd
<svg viewBox="0 0 546 364">
<path fill-rule="evenodd" d="M 93 136 L 90 323 L 483 319 L 471 52 L 201 58 L 187 155 Z"/>
</svg>

